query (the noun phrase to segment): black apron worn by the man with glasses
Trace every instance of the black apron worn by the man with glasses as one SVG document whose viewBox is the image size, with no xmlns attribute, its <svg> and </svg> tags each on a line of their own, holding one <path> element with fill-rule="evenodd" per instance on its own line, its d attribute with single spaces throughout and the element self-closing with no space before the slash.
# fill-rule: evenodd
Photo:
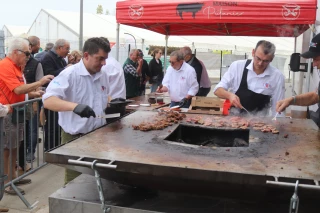
<svg viewBox="0 0 320 213">
<path fill-rule="evenodd" d="M 255 93 L 248 89 L 247 76 L 248 69 L 247 66 L 251 63 L 251 60 L 247 60 L 244 69 L 243 75 L 241 79 L 241 83 L 239 86 L 236 95 L 240 98 L 240 102 L 244 108 L 246 108 L 249 112 L 257 112 L 265 110 L 266 114 L 268 113 L 267 108 L 270 108 L 270 98 L 269 95 L 263 95 L 259 93 Z M 241 113 L 245 113 L 245 110 L 241 110 Z"/>
</svg>

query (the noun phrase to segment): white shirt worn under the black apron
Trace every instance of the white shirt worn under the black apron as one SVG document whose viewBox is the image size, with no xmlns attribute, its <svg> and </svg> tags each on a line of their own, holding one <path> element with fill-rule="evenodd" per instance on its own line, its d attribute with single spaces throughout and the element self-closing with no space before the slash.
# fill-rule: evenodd
<svg viewBox="0 0 320 213">
<path fill-rule="evenodd" d="M 214 88 L 213 92 L 215 92 L 219 87 L 222 87 L 225 90 L 230 89 L 230 92 L 236 93 L 241 83 L 245 63 L 246 60 L 233 62 L 228 71 L 223 75 L 221 81 Z M 284 75 L 271 64 L 267 66 L 262 74 L 257 75 L 253 71 L 253 61 L 251 61 L 251 63 L 247 66 L 247 69 L 248 89 L 255 93 L 270 95 L 272 115 L 275 115 L 276 104 L 278 101 L 284 99 L 285 95 Z"/>
</svg>

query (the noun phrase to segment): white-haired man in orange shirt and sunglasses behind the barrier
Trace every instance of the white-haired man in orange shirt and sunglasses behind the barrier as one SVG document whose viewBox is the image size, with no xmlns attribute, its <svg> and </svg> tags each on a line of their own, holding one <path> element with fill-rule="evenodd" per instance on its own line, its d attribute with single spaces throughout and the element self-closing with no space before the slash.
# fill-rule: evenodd
<svg viewBox="0 0 320 213">
<path fill-rule="evenodd" d="M 12 39 L 8 44 L 7 57 L 0 61 L 0 103 L 3 105 L 14 104 L 25 101 L 28 96 L 39 97 L 42 91 L 36 92 L 36 89 L 49 83 L 54 76 L 47 75 L 41 80 L 32 84 L 25 84 L 22 70 L 30 57 L 29 42 L 23 38 Z M 8 174 L 8 179 L 16 178 L 15 162 L 17 160 L 17 147 L 23 139 L 23 123 L 13 124 L 11 115 L 4 118 L 4 173 Z M 17 135 L 17 132 L 19 133 Z M 18 136 L 18 137 L 17 137 Z M 12 163 L 10 167 L 10 149 Z M 10 172 L 10 169 L 12 172 Z M 29 179 L 22 179 L 16 182 L 16 185 L 30 183 Z M 19 189 L 24 193 L 22 189 Z M 6 189 L 9 194 L 15 194 L 12 189 Z"/>
</svg>

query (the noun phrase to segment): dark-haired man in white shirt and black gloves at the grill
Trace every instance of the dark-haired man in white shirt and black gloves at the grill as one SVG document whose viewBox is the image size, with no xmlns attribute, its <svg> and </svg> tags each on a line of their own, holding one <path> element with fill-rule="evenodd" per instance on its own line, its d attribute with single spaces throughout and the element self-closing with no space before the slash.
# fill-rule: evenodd
<svg viewBox="0 0 320 213">
<path fill-rule="evenodd" d="M 96 119 L 103 115 L 108 103 L 107 76 L 101 72 L 110 45 L 101 38 L 89 38 L 83 46 L 82 60 L 64 69 L 42 96 L 45 108 L 59 112 L 61 143 L 88 133 L 106 123 Z M 65 183 L 79 173 L 66 170 Z"/>
</svg>

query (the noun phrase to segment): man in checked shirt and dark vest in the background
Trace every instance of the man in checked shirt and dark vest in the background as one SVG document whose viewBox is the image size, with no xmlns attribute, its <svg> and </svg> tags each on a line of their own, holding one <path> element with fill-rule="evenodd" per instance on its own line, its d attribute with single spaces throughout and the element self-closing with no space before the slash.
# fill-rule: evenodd
<svg viewBox="0 0 320 213">
<path fill-rule="evenodd" d="M 140 53 L 137 49 L 132 49 L 129 53 L 129 57 L 123 64 L 127 99 L 140 96 L 141 69 L 143 61 L 138 58 L 139 54 Z"/>
</svg>

